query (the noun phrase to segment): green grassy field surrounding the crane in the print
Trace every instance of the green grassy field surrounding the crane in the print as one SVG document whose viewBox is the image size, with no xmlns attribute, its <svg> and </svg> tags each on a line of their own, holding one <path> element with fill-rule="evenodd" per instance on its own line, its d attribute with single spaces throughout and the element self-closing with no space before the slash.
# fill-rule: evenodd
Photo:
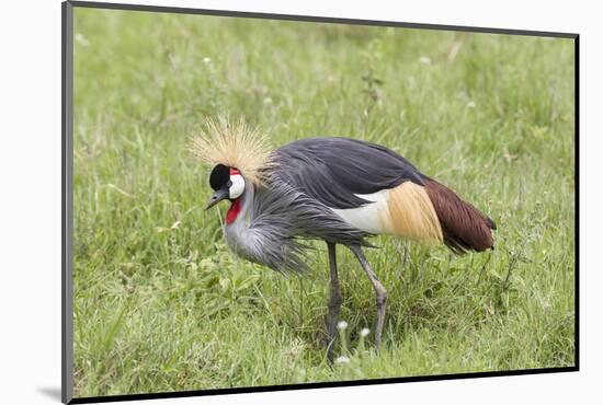
<svg viewBox="0 0 603 405">
<path fill-rule="evenodd" d="M 75 12 L 76 396 L 572 366 L 573 42 Z M 496 251 L 338 248 L 348 363 L 326 360 L 326 248 L 284 277 L 236 258 L 189 136 L 244 117 L 276 147 L 383 143 L 499 225 Z"/>
</svg>

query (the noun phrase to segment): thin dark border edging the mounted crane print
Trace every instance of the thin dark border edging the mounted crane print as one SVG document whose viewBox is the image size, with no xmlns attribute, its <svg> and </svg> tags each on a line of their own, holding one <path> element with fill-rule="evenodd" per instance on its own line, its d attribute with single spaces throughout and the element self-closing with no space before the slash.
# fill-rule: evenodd
<svg viewBox="0 0 603 405">
<path fill-rule="evenodd" d="M 541 369 L 524 369 L 509 371 L 488 371 L 457 374 L 435 374 L 435 375 L 416 375 L 416 377 L 399 377 L 386 379 L 371 380 L 352 380 L 352 381 L 333 381 L 333 382 L 315 382 L 303 384 L 287 385 L 264 385 L 264 386 L 246 386 L 234 389 L 214 389 L 214 390 L 195 390 L 181 392 L 159 392 L 145 394 L 124 394 L 93 397 L 73 397 L 73 257 L 72 257 L 72 236 L 73 236 L 73 8 L 92 8 L 105 10 L 125 10 L 125 11 L 146 11 L 159 13 L 178 13 L 178 14 L 201 14 L 201 15 L 217 15 L 217 16 L 234 16 L 248 19 L 268 19 L 268 20 L 285 20 L 285 21 L 306 21 L 334 24 L 354 24 L 354 25 L 373 25 L 373 26 L 394 26 L 407 28 L 424 28 L 435 31 L 460 31 L 471 33 L 488 33 L 488 34 L 507 34 L 507 35 L 524 35 L 524 36 L 541 36 L 541 37 L 557 37 L 571 38 L 574 40 L 574 366 L 557 367 L 557 368 L 541 368 Z M 375 21 L 375 20 L 356 20 L 341 19 L 328 16 L 312 15 L 292 15 L 292 14 L 273 14 L 273 13 L 255 13 L 242 11 L 224 11 L 209 9 L 192 9 L 192 8 L 175 8 L 160 5 L 144 5 L 144 4 L 123 4 L 109 2 L 90 2 L 90 1 L 65 1 L 61 3 L 61 402 L 65 404 L 84 404 L 84 403 L 103 403 L 117 401 L 135 401 L 135 400 L 153 400 L 153 398 L 173 398 L 189 396 L 206 396 L 206 395 L 224 395 L 224 394 L 241 394 L 253 392 L 272 392 L 272 391 L 291 391 L 291 390 L 308 390 L 322 387 L 338 386 L 354 386 L 354 385 L 375 385 L 375 384 L 391 384 L 402 382 L 420 382 L 420 381 L 441 381 L 441 380 L 460 380 L 488 377 L 507 377 L 507 375 L 528 375 L 528 374 L 545 374 L 572 372 L 580 370 L 580 282 L 579 282 L 579 257 L 580 257 L 580 35 L 577 33 L 560 33 L 545 31 L 525 31 L 525 30 L 505 30 L 492 27 L 473 27 L 458 25 L 440 25 L 440 24 L 419 24 L 408 22 L 394 21 Z"/>
</svg>

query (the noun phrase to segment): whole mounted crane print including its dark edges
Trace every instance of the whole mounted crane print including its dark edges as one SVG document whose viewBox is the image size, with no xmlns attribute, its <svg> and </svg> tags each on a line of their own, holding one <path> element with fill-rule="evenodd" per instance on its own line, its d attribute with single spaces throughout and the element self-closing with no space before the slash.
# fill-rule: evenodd
<svg viewBox="0 0 603 405">
<path fill-rule="evenodd" d="M 577 53 L 64 3 L 64 402 L 578 370 Z"/>
</svg>

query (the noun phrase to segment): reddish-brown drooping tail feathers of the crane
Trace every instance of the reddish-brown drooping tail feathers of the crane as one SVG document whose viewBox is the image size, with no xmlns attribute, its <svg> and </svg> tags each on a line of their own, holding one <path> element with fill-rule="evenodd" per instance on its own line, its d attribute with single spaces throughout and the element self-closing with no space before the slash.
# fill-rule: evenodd
<svg viewBox="0 0 603 405">
<path fill-rule="evenodd" d="M 440 220 L 446 246 L 457 254 L 494 248 L 491 230 L 497 225 L 490 218 L 434 180 L 425 180 L 424 187 Z"/>
</svg>

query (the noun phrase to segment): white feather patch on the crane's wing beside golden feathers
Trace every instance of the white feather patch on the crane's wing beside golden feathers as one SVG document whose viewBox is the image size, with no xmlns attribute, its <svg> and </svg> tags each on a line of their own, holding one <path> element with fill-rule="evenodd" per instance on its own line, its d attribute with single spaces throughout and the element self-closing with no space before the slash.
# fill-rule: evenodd
<svg viewBox="0 0 603 405">
<path fill-rule="evenodd" d="M 359 208 L 331 208 L 345 223 L 361 231 L 380 234 L 394 233 L 394 225 L 389 216 L 389 189 L 382 189 L 373 194 L 356 194 L 357 197 L 373 201 Z"/>
</svg>

